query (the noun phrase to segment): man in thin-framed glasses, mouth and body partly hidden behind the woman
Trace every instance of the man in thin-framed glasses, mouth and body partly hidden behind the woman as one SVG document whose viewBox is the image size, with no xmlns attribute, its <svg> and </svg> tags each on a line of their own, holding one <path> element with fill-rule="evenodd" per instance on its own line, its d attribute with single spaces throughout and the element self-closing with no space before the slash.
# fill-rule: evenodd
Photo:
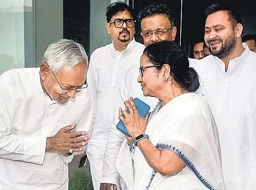
<svg viewBox="0 0 256 190">
<path fill-rule="evenodd" d="M 174 41 L 177 28 L 174 24 L 174 18 L 172 12 L 167 5 L 162 3 L 149 4 L 140 10 L 138 15 L 138 24 L 141 28 L 141 36 L 145 46 L 153 44 L 158 41 Z M 191 59 L 189 60 L 191 62 Z M 140 84 L 137 82 L 139 76 L 140 63 L 133 65 L 125 73 L 124 82 L 119 88 L 119 99 L 116 101 L 116 106 L 120 107 L 123 105 L 124 100 L 129 97 L 140 98 L 150 105 L 151 111 L 157 104 L 157 99 L 153 97 L 143 96 Z M 145 68 L 141 68 L 142 72 Z M 153 69 L 153 68 L 148 68 Z M 125 136 L 116 129 L 118 122 L 118 109 L 115 113 L 116 117 L 113 119 L 111 129 L 109 132 L 107 148 L 105 151 L 104 165 L 103 165 L 103 181 L 104 184 L 117 184 L 120 185 L 121 189 L 129 189 L 127 182 L 121 179 L 116 169 L 116 159 L 118 156 L 119 148 L 125 138 Z M 103 183 L 102 183 L 103 186 Z M 108 188 L 102 188 L 107 190 Z"/>
</svg>

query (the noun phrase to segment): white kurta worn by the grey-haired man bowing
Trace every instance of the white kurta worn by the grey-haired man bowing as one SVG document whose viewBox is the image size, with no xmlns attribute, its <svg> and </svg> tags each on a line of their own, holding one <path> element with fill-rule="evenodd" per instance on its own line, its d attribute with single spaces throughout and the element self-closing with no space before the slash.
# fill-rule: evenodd
<svg viewBox="0 0 256 190">
<path fill-rule="evenodd" d="M 68 189 L 73 156 L 45 153 L 46 137 L 73 123 L 89 131 L 87 90 L 61 106 L 43 92 L 39 68 L 18 68 L 0 76 L 0 106 L 0 189 Z"/>
</svg>

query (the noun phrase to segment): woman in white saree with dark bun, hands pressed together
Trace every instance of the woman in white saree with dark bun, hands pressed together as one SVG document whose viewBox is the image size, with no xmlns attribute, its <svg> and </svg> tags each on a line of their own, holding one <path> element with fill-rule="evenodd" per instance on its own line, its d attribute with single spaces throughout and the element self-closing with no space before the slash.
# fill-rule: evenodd
<svg viewBox="0 0 256 190">
<path fill-rule="evenodd" d="M 159 103 L 150 118 L 139 116 L 132 98 L 125 101 L 129 113 L 119 109 L 132 137 L 116 163 L 126 189 L 225 189 L 217 127 L 207 101 L 192 93 L 198 75 L 185 52 L 169 41 L 149 45 L 138 82 Z"/>
</svg>

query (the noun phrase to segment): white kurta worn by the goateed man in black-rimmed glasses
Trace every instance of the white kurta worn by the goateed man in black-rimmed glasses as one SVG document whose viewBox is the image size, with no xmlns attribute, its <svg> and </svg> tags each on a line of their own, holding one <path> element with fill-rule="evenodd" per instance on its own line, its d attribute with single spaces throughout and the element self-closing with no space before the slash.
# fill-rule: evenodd
<svg viewBox="0 0 256 190">
<path fill-rule="evenodd" d="M 94 189 L 99 189 L 102 179 L 104 151 L 115 116 L 120 84 L 127 70 L 134 64 L 138 65 L 144 48 L 133 39 L 124 51 L 117 51 L 112 43 L 96 49 L 91 55 L 87 83 L 93 96 L 95 122 L 87 156 Z"/>
</svg>

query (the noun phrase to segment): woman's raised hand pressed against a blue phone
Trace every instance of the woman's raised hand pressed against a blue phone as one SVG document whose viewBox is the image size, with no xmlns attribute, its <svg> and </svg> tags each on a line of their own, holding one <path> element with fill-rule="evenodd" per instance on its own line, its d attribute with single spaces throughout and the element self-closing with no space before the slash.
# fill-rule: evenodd
<svg viewBox="0 0 256 190">
<path fill-rule="evenodd" d="M 148 113 L 145 118 L 141 117 L 133 98 L 126 100 L 124 105 L 126 109 L 129 109 L 129 113 L 126 110 L 119 108 L 119 119 L 122 120 L 128 133 L 134 139 L 134 137 L 145 133 L 150 113 Z"/>
</svg>

